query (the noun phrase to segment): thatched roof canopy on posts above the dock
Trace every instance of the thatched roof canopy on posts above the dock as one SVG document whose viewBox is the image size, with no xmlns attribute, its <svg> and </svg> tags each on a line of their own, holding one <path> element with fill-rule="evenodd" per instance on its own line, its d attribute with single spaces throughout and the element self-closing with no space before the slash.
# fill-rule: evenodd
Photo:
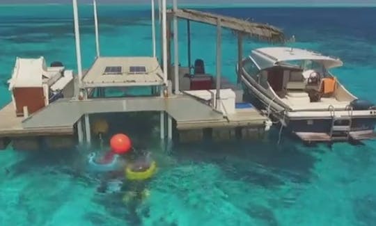
<svg viewBox="0 0 376 226">
<path fill-rule="evenodd" d="M 259 40 L 267 40 L 269 42 L 285 42 L 285 35 L 281 29 L 268 24 L 249 22 L 244 19 L 237 19 L 235 17 L 227 17 L 190 9 L 178 9 L 176 11 L 169 9 L 167 10 L 167 13 L 169 16 L 175 14 L 181 19 L 189 19 L 191 21 L 201 22 L 204 24 L 212 24 L 214 26 L 217 26 L 217 21 L 220 19 L 222 27 L 231 29 L 235 33 L 242 33 L 245 36 L 249 36 L 249 38 L 257 38 Z"/>
</svg>

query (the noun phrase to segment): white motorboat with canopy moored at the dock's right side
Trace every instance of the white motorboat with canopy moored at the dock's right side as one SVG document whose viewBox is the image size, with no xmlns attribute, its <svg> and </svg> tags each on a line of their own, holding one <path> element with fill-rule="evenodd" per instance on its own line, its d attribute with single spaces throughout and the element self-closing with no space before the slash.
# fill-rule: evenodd
<svg viewBox="0 0 376 226">
<path fill-rule="evenodd" d="M 340 59 L 266 47 L 253 50 L 239 65 L 246 98 L 301 140 L 375 138 L 376 106 L 355 97 L 329 72 L 343 65 Z"/>
</svg>

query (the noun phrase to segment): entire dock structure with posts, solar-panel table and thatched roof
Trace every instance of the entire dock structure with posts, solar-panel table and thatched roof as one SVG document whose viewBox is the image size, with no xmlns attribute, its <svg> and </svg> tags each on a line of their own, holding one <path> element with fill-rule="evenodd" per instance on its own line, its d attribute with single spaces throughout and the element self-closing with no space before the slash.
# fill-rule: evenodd
<svg viewBox="0 0 376 226">
<path fill-rule="evenodd" d="M 74 4 L 74 8 L 77 7 Z M 33 149 L 45 147 L 67 147 L 75 141 L 76 134 L 79 143 L 91 143 L 90 115 L 95 113 L 126 113 L 157 111 L 160 114 L 160 138 L 171 139 L 173 124 L 178 131 L 179 138 L 205 138 L 203 134 L 210 134 L 211 138 L 244 137 L 251 130 L 257 132 L 269 129 L 269 119 L 253 106 L 237 106 L 242 103 L 242 94 L 238 92 L 241 80 L 237 76 L 237 86 L 225 90 L 221 81 L 221 39 L 222 29 L 229 29 L 237 36 L 238 61 L 243 57 L 243 39 L 256 38 L 273 42 L 284 42 L 283 32 L 267 24 L 249 22 L 233 17 L 200 12 L 198 10 L 179 10 L 174 1 L 173 10 L 164 11 L 161 26 L 161 61 L 156 56 L 122 56 L 102 57 L 97 49 L 97 58 L 88 72 L 79 67 L 72 86 L 72 95 L 63 95 L 48 106 L 35 109 L 27 118 L 17 118 L 14 104 L 11 102 L 0 110 L 0 149 L 13 140 L 15 149 Z M 95 8 L 96 12 L 96 8 Z M 96 15 L 95 15 L 96 17 Z M 178 19 L 187 21 L 187 58 L 186 67 L 175 65 L 180 62 L 178 52 Z M 75 18 L 77 22 L 77 18 Z M 173 29 L 171 24 L 173 22 Z M 205 72 L 205 63 L 201 58 L 191 62 L 191 22 L 211 24 L 217 29 L 216 75 Z M 79 31 L 75 23 L 75 31 Z M 97 27 L 97 25 L 95 25 Z M 176 35 L 173 35 L 176 34 Z M 77 33 L 75 33 L 77 35 Z M 153 35 L 155 38 L 155 35 Z M 76 36 L 77 65 L 81 65 L 81 49 L 79 38 Z M 173 37 L 174 60 L 171 59 L 171 38 Z M 97 48 L 99 43 L 97 42 Z M 154 46 L 155 49 L 155 46 Z M 162 61 L 164 62 L 162 64 Z M 162 64 L 161 67 L 159 64 Z M 111 66 L 112 65 L 112 66 Z M 134 66 L 134 65 L 142 65 Z M 241 66 L 241 65 L 240 65 Z M 181 70 L 181 73 L 180 73 Z M 111 74 L 110 76 L 102 76 Z M 26 70 L 25 77 L 30 75 Z M 205 75 L 205 76 L 203 76 Z M 36 76 L 40 76 L 36 74 Z M 200 78 L 203 76 L 203 78 Z M 183 82 L 184 81 L 184 82 Z M 191 97 L 185 95 L 187 90 L 210 91 L 215 95 L 207 97 Z M 180 88 L 180 83 L 182 87 Z M 29 83 L 27 83 L 29 85 Z M 183 86 L 187 85 L 187 86 Z M 189 86 L 188 86 L 189 85 Z M 113 87 L 127 90 L 130 87 L 149 87 L 150 94 L 143 96 L 124 95 L 121 97 L 107 97 L 104 90 Z M 228 87 L 229 88 L 229 87 Z M 70 92 L 73 92 L 70 90 Z M 183 94 L 180 92 L 182 91 Z M 226 95 L 224 93 L 226 92 Z M 91 96 L 91 94 L 95 97 Z M 32 106 L 33 99 L 24 95 Z M 41 100 L 47 95 L 38 93 Z M 198 94 L 198 96 L 200 96 Z M 226 97 L 225 97 L 226 96 Z M 75 98 L 72 98 L 75 97 Z M 208 99 L 207 99 L 208 98 Z M 207 102 L 209 101 L 209 102 Z M 19 105 L 19 102 L 17 101 Z M 235 108 L 234 108 L 235 104 Z M 42 104 L 41 104 L 42 105 Z M 29 106 L 21 104 L 19 108 Z M 196 132 L 198 131 L 198 132 Z M 189 135 L 191 134 L 191 135 Z M 187 136 L 186 136 L 187 135 Z M 65 139 L 66 138 L 66 139 Z M 69 141 L 69 142 L 68 142 Z"/>
</svg>

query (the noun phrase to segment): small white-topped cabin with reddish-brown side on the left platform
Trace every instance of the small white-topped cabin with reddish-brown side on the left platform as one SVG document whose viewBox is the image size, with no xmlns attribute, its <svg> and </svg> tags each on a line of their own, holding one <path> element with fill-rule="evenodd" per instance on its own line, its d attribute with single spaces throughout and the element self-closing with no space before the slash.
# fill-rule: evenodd
<svg viewBox="0 0 376 226">
<path fill-rule="evenodd" d="M 47 67 L 43 57 L 17 57 L 12 77 L 8 80 L 16 115 L 27 117 L 63 97 L 64 93 L 72 96 L 72 81 L 72 70 L 65 70 L 60 62 Z"/>
</svg>

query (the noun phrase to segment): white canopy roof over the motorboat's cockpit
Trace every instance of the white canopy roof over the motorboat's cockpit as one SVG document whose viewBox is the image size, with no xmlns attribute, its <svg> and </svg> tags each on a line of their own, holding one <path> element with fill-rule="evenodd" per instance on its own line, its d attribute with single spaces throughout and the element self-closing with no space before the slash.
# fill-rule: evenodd
<svg viewBox="0 0 376 226">
<path fill-rule="evenodd" d="M 280 65 L 283 62 L 296 60 L 312 60 L 324 65 L 325 68 L 340 67 L 343 62 L 338 58 L 323 56 L 314 51 L 290 47 L 266 47 L 255 49 L 250 56 L 260 70 Z"/>
</svg>

